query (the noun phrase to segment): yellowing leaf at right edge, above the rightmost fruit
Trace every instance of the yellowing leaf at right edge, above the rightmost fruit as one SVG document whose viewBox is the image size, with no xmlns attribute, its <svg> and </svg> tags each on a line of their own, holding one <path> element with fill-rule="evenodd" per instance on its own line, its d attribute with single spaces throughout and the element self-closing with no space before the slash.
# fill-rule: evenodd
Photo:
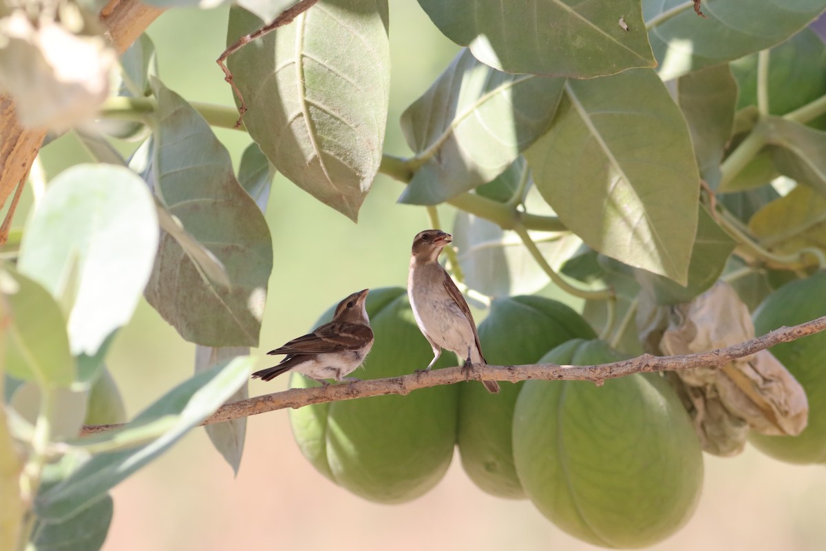
<svg viewBox="0 0 826 551">
<path fill-rule="evenodd" d="M 757 211 L 748 229 L 771 252 L 796 254 L 804 247 L 826 251 L 826 198 L 797 186 Z"/>
</svg>

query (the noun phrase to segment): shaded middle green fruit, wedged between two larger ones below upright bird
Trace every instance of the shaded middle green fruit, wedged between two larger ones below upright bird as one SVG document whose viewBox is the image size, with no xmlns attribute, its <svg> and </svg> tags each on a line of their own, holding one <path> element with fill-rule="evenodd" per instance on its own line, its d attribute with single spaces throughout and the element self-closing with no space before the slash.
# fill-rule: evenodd
<svg viewBox="0 0 826 551">
<path fill-rule="evenodd" d="M 591 325 L 562 302 L 543 297 L 493 301 L 479 325 L 479 340 L 488 363 L 536 363 L 548 350 L 577 337 L 596 338 Z M 525 498 L 514 469 L 510 427 L 521 383 L 501 383 L 491 394 L 478 382 L 460 385 L 458 446 L 468 477 L 498 497 Z"/>
</svg>

